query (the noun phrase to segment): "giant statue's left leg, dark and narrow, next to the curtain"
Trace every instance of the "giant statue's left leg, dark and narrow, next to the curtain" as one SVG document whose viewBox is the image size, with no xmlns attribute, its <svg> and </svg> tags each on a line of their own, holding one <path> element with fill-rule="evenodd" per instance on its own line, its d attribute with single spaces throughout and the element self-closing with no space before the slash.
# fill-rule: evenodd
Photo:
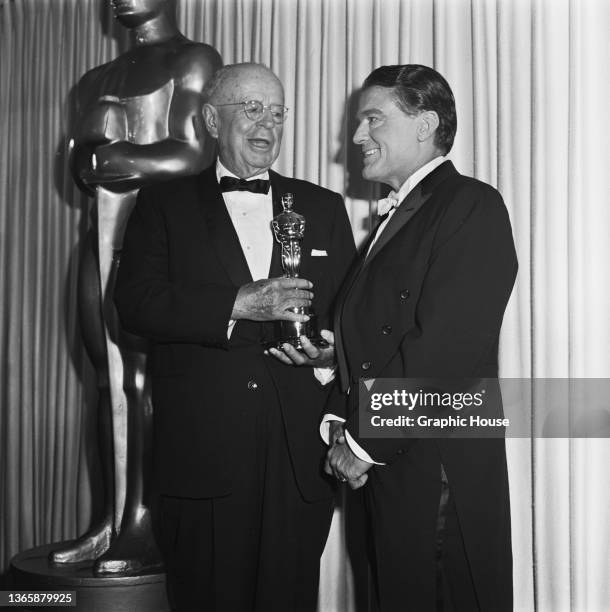
<svg viewBox="0 0 610 612">
<path fill-rule="evenodd" d="M 112 410 L 108 381 L 106 340 L 101 310 L 101 291 L 97 262 L 97 233 L 87 234 L 78 275 L 78 311 L 87 354 L 97 375 L 99 451 L 103 479 L 103 514 L 83 536 L 70 546 L 59 548 L 50 555 L 52 563 L 77 563 L 96 559 L 110 545 L 114 525 L 114 458 L 112 440 Z"/>
</svg>

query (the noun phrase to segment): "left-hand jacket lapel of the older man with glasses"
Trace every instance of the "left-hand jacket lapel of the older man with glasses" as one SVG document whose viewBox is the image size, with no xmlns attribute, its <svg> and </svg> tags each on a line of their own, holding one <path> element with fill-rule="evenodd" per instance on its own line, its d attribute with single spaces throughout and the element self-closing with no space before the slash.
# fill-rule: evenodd
<svg viewBox="0 0 610 612">
<path fill-rule="evenodd" d="M 236 287 L 251 283 L 248 262 L 216 180 L 215 165 L 200 174 L 199 186 L 199 201 L 208 234 L 222 266 Z"/>
</svg>

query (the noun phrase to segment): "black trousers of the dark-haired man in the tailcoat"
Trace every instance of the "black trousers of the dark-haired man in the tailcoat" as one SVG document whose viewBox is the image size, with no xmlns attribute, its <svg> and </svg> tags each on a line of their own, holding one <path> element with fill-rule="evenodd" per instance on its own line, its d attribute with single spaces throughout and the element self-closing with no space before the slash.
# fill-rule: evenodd
<svg viewBox="0 0 610 612">
<path fill-rule="evenodd" d="M 365 486 L 378 611 L 478 612 L 450 485 L 433 445 L 420 451 L 419 463 L 373 469 Z"/>
</svg>

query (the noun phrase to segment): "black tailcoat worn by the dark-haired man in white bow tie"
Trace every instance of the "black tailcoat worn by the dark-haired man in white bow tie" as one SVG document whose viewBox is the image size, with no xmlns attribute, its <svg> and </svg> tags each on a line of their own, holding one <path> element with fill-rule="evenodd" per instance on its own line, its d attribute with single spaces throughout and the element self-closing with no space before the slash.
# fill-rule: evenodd
<svg viewBox="0 0 610 612">
<path fill-rule="evenodd" d="M 344 388 L 355 391 L 361 377 L 497 377 L 500 326 L 517 259 L 495 189 L 444 162 L 400 204 L 365 258 L 367 248 L 348 274 L 336 309 Z M 356 396 L 349 395 L 347 429 L 375 460 L 392 464 L 374 469 L 381 479 L 388 475 L 390 488 L 403 487 L 393 493 L 412 498 L 411 514 L 401 520 L 430 523 L 417 495 L 427 479 L 440 480 L 438 463 L 431 464 L 436 457 L 454 496 L 481 609 L 508 609 L 504 440 L 361 438 Z M 403 468 L 408 476 L 397 478 Z"/>
</svg>

